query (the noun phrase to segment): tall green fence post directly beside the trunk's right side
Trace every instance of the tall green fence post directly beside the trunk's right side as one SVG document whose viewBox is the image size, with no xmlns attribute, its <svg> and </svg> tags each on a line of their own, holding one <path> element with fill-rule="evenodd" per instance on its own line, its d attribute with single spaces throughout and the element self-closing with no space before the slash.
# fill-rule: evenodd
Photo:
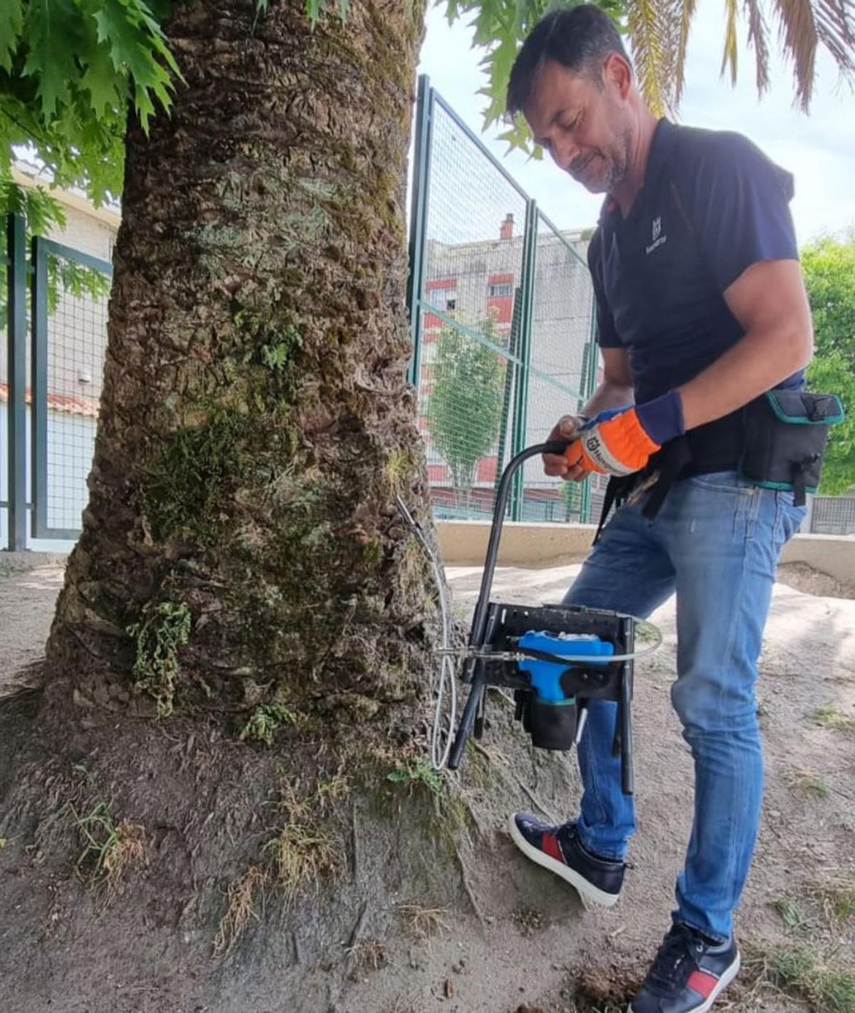
<svg viewBox="0 0 855 1013">
<path fill-rule="evenodd" d="M 434 137 L 434 89 L 426 74 L 418 78 L 418 97 L 415 106 L 415 150 L 412 166 L 412 204 L 409 223 L 409 275 L 407 277 L 407 306 L 409 329 L 412 336 L 412 359 L 409 365 L 409 382 L 418 393 L 421 376 L 421 307 L 423 291 L 424 253 L 428 229 L 428 198 L 431 189 L 431 152 Z"/>
</svg>

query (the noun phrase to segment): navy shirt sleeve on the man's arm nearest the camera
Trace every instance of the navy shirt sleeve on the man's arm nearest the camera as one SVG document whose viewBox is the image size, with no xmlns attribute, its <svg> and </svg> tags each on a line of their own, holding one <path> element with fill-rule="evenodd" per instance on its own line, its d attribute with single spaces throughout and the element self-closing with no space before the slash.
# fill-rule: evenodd
<svg viewBox="0 0 855 1013">
<path fill-rule="evenodd" d="M 693 176 L 692 218 L 720 292 L 759 260 L 798 259 L 792 176 L 748 138 L 714 135 Z"/>
</svg>

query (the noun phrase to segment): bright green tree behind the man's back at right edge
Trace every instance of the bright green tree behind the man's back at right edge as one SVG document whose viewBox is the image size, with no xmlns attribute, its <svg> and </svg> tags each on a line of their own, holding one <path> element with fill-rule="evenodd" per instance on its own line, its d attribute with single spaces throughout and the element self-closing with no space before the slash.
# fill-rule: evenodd
<svg viewBox="0 0 855 1013">
<path fill-rule="evenodd" d="M 846 408 L 846 420 L 831 431 L 820 489 L 836 495 L 855 486 L 855 231 L 805 247 L 801 263 L 815 343 L 808 380 Z"/>
</svg>

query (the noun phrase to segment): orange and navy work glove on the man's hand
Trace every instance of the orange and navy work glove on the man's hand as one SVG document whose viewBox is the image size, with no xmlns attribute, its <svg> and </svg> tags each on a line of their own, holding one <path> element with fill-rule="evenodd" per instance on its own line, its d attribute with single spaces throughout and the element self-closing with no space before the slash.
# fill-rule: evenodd
<svg viewBox="0 0 855 1013">
<path fill-rule="evenodd" d="M 651 454 L 686 432 L 683 402 L 677 391 L 643 404 L 613 408 L 595 415 L 564 453 L 570 467 L 601 475 L 631 475 Z"/>
</svg>

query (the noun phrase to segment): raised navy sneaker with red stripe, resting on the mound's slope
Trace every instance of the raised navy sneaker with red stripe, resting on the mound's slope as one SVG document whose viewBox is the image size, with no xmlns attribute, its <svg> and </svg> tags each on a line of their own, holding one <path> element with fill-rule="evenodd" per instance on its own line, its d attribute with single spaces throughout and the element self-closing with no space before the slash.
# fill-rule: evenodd
<svg viewBox="0 0 855 1013">
<path fill-rule="evenodd" d="M 617 903 L 626 864 L 592 855 L 581 846 L 575 824 L 550 827 L 528 812 L 516 812 L 511 816 L 510 829 L 511 839 L 520 851 L 566 880 L 586 906 L 611 908 Z"/>
</svg>

